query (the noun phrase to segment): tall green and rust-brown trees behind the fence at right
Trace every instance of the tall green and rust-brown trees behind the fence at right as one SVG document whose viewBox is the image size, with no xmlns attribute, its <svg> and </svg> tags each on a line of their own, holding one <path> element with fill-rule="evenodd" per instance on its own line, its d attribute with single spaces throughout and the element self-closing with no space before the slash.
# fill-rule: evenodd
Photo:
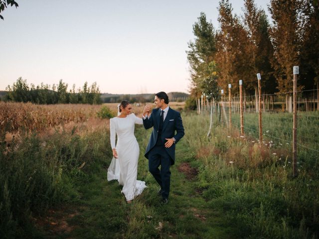
<svg viewBox="0 0 319 239">
<path fill-rule="evenodd" d="M 293 66 L 300 66 L 299 90 L 319 88 L 318 0 L 270 0 L 272 23 L 254 0 L 244 0 L 242 16 L 233 13 L 229 0 L 220 0 L 218 11 L 219 29 L 204 12 L 192 27 L 195 38 L 186 51 L 192 98 L 204 93 L 218 99 L 228 84 L 237 93 L 239 80 L 246 95 L 255 95 L 260 73 L 264 93 L 287 93 L 287 99 L 293 90 Z M 214 81 L 215 91 L 207 91 L 207 83 Z"/>
</svg>

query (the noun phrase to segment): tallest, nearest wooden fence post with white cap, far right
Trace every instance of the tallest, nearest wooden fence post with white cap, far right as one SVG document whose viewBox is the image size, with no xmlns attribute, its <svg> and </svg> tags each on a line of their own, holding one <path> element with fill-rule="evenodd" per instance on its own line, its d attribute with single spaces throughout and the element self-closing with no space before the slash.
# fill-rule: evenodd
<svg viewBox="0 0 319 239">
<path fill-rule="evenodd" d="M 298 176 L 297 171 L 297 75 L 299 66 L 294 66 L 294 119 L 293 119 L 293 177 Z"/>
</svg>

